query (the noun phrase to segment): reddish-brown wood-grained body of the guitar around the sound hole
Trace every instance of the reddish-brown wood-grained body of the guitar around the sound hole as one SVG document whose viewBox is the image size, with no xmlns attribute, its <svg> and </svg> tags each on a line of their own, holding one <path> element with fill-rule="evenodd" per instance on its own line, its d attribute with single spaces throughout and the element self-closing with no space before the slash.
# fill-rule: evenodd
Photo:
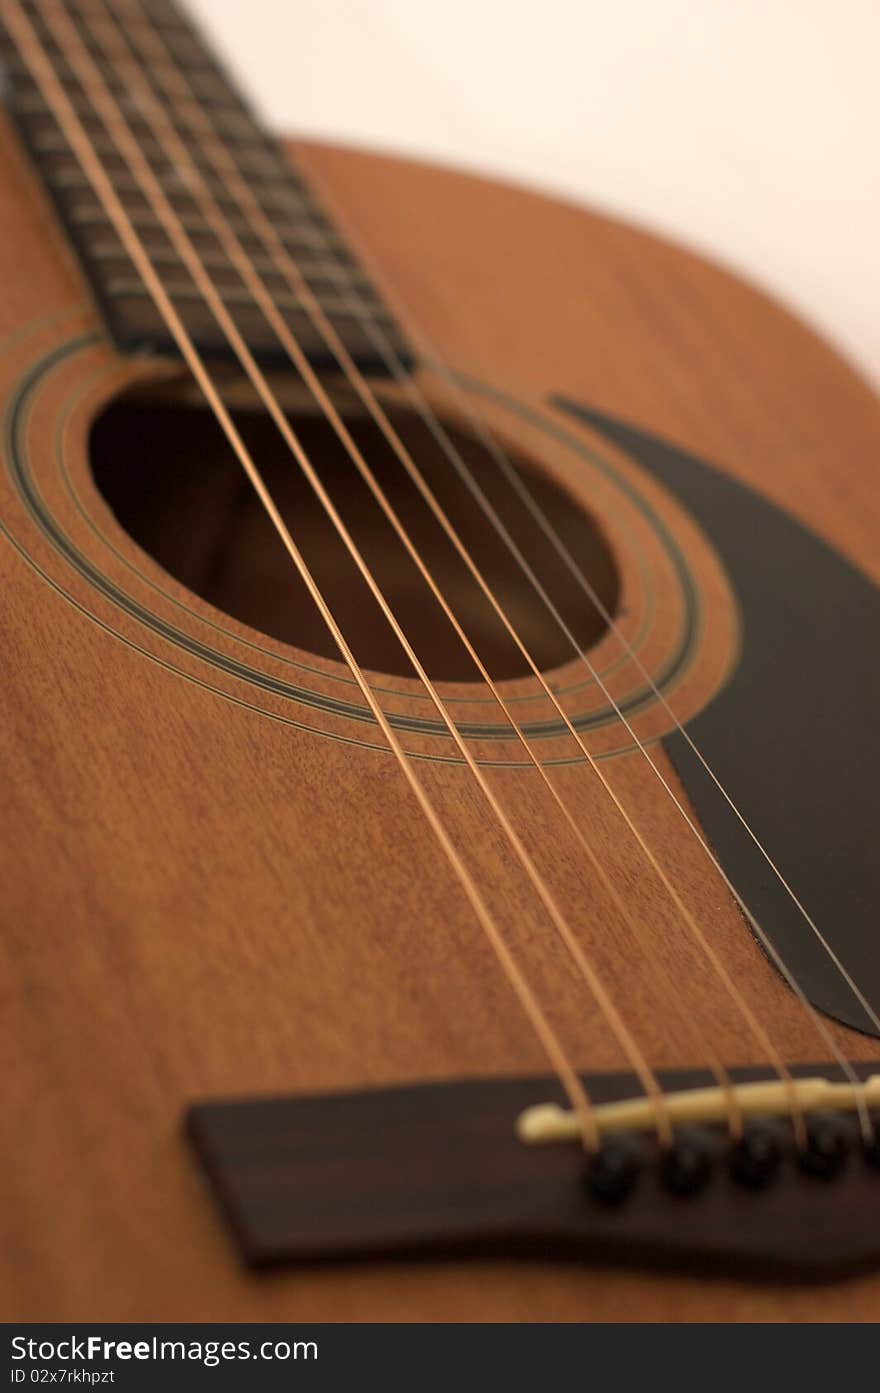
<svg viewBox="0 0 880 1393">
<path fill-rule="evenodd" d="M 201 598 L 132 539 L 99 489 L 93 422 L 132 386 L 160 389 L 167 371 L 111 347 L 7 127 L 0 152 L 0 489 L 11 542 L 1 553 L 4 1315 L 876 1319 L 880 1277 L 870 1275 L 815 1287 L 512 1258 L 260 1275 L 239 1263 L 182 1134 L 192 1102 L 547 1066 L 394 762 L 376 748 L 375 723 L 352 715 L 358 694 L 343 664 Z M 493 430 L 596 521 L 617 567 L 621 624 L 643 635 L 652 674 L 682 623 L 670 546 L 686 559 L 700 623 L 670 678 L 682 719 L 712 712 L 732 690 L 752 641 L 749 616 L 712 528 L 590 412 L 705 461 L 877 578 L 880 407 L 778 305 L 578 208 L 372 155 L 295 153 L 370 256 L 404 327 L 411 316 Z M 461 393 L 441 375 L 419 380 L 466 430 Z M 125 471 L 124 450 L 103 461 L 104 478 L 114 468 Z M 752 545 L 757 557 L 773 538 L 756 534 Z M 841 684 L 851 638 L 841 623 Z M 617 674 L 621 694 L 638 685 L 613 632 L 596 638 L 592 656 Z M 571 657 L 554 656 L 550 669 L 560 690 L 575 688 Z M 405 664 L 387 674 L 379 660 L 370 677 L 412 717 L 404 740 L 426 756 L 419 777 L 578 1064 L 625 1068 L 468 769 L 427 720 L 418 683 Z M 551 719 L 529 674 L 500 685 L 529 719 Z M 766 1066 L 564 731 L 542 748 L 625 887 L 643 933 L 635 946 L 560 832 L 536 770 L 494 730 L 485 691 L 457 677 L 440 691 L 462 720 L 486 727 L 475 749 L 492 786 L 627 1003 L 652 1064 L 705 1064 L 688 1013 L 668 1009 L 671 978 L 725 1063 Z M 582 702 L 588 719 L 596 694 Z M 816 741 L 869 740 L 867 729 L 841 729 L 834 710 L 826 715 Z M 634 720 L 699 816 L 663 740 L 667 715 L 646 702 Z M 771 1022 L 785 1059 L 826 1059 L 646 761 L 615 731 L 596 722 L 602 768 L 727 970 Z M 748 751 L 746 719 L 744 761 Z M 880 1060 L 874 1036 L 824 1018 L 848 1057 Z"/>
</svg>

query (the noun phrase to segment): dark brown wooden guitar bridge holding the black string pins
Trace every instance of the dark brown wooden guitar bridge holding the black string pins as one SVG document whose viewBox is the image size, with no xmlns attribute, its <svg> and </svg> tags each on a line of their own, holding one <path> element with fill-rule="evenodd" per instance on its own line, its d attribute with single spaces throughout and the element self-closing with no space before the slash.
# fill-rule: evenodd
<svg viewBox="0 0 880 1393">
<path fill-rule="evenodd" d="M 854 1070 L 866 1082 L 876 1064 Z M 763 1096 L 760 1124 L 771 1128 L 764 1141 L 777 1149 L 777 1165 L 738 1166 L 742 1148 L 717 1109 L 698 1126 L 692 1105 L 682 1112 L 681 1098 L 712 1081 L 670 1070 L 659 1080 L 689 1120 L 677 1124 L 673 1152 L 659 1146 L 641 1113 L 631 1127 L 611 1130 L 615 1142 L 635 1146 L 624 1187 L 602 1183 L 608 1156 L 590 1163 L 576 1130 L 554 1145 L 517 1134 L 517 1120 L 536 1105 L 561 1109 L 550 1078 L 202 1102 L 189 1109 L 187 1130 L 253 1266 L 515 1255 L 798 1280 L 876 1266 L 877 1145 L 865 1144 L 852 1100 L 835 1096 L 844 1085 L 828 1082 L 828 1064 L 792 1070 L 803 1081 L 801 1096 L 822 1099 L 822 1112 L 805 1102 L 810 1149 L 799 1151 L 791 1121 L 769 1107 L 766 1089 L 777 1085 L 767 1085 L 767 1073 L 731 1070 L 731 1078 L 742 1099 Z M 816 1094 L 817 1080 L 830 1092 Z M 585 1074 L 583 1082 L 599 1109 L 634 1106 L 631 1074 Z M 872 1081 L 865 1098 L 873 1102 L 874 1092 Z M 748 1138 L 748 1107 L 744 1119 Z M 615 1155 L 611 1178 L 621 1169 Z"/>
</svg>

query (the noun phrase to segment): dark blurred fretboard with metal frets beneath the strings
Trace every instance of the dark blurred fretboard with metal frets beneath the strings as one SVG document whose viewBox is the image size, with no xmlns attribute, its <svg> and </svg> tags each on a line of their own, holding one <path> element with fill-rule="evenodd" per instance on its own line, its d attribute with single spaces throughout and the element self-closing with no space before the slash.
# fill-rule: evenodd
<svg viewBox="0 0 880 1393">
<path fill-rule="evenodd" d="M 47 11 L 60 8 L 58 0 L 22 0 L 28 20 L 52 61 L 54 75 L 70 99 L 95 152 L 131 219 L 131 223 L 159 272 L 188 333 L 198 350 L 209 357 L 228 357 L 226 337 L 196 287 L 188 266 L 167 235 L 162 219 L 128 167 L 113 134 L 95 109 L 88 91 L 78 81 L 75 65 L 68 61 L 47 24 Z M 88 52 L 100 70 L 103 82 L 120 103 L 138 146 L 157 176 L 163 194 L 180 224 L 199 254 L 202 265 L 242 332 L 251 351 L 267 364 L 285 361 L 260 305 L 253 283 L 239 274 L 228 255 L 228 241 L 216 235 L 216 217 L 205 216 L 203 199 L 195 198 L 178 163 L 170 156 L 167 139 L 156 137 L 155 124 L 143 114 L 128 89 L 124 75 L 114 68 L 113 53 L 99 39 L 95 17 L 107 10 L 125 28 L 128 59 L 138 60 L 142 81 L 162 100 L 166 116 L 187 149 L 188 157 L 205 181 L 223 219 L 238 238 L 248 260 L 259 273 L 273 304 L 298 343 L 316 366 L 334 364 L 324 336 L 302 306 L 295 284 L 278 260 L 277 244 L 267 244 L 265 224 L 253 217 L 253 206 L 239 191 L 230 189 L 220 177 L 216 160 L 206 150 L 205 131 L 194 128 L 185 110 L 168 99 L 167 88 L 152 72 L 155 45 L 162 42 L 168 64 L 187 79 L 188 100 L 210 121 L 212 138 L 221 141 L 226 156 L 246 181 L 251 198 L 272 223 L 285 254 L 319 301 L 336 333 L 358 365 L 369 372 L 387 371 L 391 351 L 409 361 L 407 344 L 356 258 L 345 245 L 330 219 L 317 206 L 305 181 L 292 169 L 287 155 L 260 127 L 246 102 L 226 71 L 209 52 L 194 25 L 170 0 L 70 0 L 63 7 L 75 24 Z M 0 7 L 0 17 L 3 8 Z M 175 355 L 174 341 L 156 309 L 148 288 L 135 270 L 114 224 L 92 188 L 68 135 L 56 120 L 46 95 L 35 81 L 11 33 L 0 24 L 0 61 L 6 72 L 6 103 L 31 153 L 64 230 L 82 263 L 117 347 L 127 354 L 152 352 Z M 189 113 L 191 114 L 191 113 Z M 178 152 L 180 153 L 180 152 Z M 188 171 L 191 176 L 191 171 Z"/>
</svg>

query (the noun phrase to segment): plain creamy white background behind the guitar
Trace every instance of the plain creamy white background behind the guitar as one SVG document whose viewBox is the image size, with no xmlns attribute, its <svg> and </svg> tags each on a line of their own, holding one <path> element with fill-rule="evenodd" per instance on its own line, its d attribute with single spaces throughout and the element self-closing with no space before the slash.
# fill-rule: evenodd
<svg viewBox="0 0 880 1393">
<path fill-rule="evenodd" d="M 880 386 L 880 0 L 189 0 L 273 127 L 622 213 Z"/>
</svg>

